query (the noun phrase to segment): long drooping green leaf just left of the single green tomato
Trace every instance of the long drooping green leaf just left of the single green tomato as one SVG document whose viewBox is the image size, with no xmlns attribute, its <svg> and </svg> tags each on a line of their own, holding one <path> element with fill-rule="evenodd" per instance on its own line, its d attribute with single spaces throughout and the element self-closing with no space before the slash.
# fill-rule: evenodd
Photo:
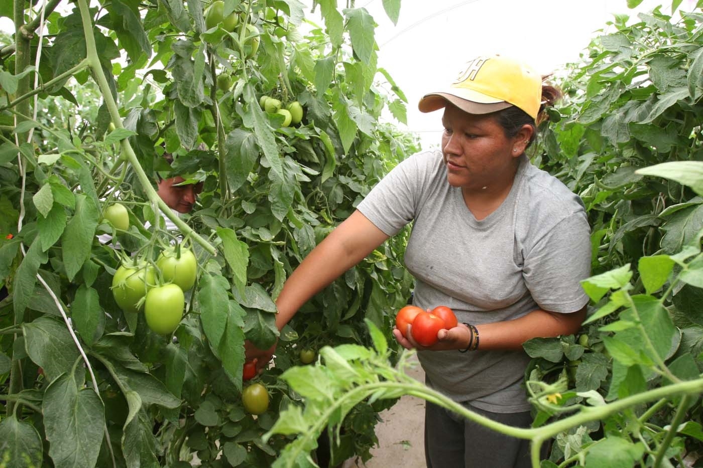
<svg viewBox="0 0 703 468">
<path fill-rule="evenodd" d="M 63 264 L 72 280 L 89 258 L 100 214 L 93 199 L 76 195 L 76 211 L 61 236 Z"/>
</svg>

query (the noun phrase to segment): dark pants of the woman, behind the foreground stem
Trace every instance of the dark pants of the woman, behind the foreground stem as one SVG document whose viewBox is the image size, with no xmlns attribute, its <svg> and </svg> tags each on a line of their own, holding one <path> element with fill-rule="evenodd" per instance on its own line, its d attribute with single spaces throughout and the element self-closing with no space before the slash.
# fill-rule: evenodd
<svg viewBox="0 0 703 468">
<path fill-rule="evenodd" d="M 529 427 L 529 411 L 498 413 L 468 407 L 491 420 Z M 434 403 L 425 404 L 427 468 L 529 468 L 529 441 L 493 431 Z"/>
</svg>

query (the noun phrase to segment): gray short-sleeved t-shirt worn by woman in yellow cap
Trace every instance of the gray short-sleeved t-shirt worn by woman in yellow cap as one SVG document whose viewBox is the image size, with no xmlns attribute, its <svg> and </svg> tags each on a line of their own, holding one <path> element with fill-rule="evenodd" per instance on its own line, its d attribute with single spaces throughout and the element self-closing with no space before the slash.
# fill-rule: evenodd
<svg viewBox="0 0 703 468">
<path fill-rule="evenodd" d="M 524 155 L 508 197 L 477 221 L 446 180 L 440 151 L 396 166 L 359 204 L 380 230 L 413 230 L 405 264 L 413 304 L 444 305 L 460 323 L 498 322 L 543 308 L 570 313 L 588 303 L 580 280 L 591 268 L 583 202 Z M 524 351 L 419 351 L 427 383 L 454 401 L 491 412 L 529 410 Z"/>
</svg>

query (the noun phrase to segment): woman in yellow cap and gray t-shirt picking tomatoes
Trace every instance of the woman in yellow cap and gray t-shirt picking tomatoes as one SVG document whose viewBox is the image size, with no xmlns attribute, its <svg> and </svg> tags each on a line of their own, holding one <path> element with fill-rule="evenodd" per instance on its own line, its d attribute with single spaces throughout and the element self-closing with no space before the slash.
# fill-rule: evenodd
<svg viewBox="0 0 703 468">
<path fill-rule="evenodd" d="M 534 337 L 572 334 L 586 314 L 580 280 L 590 274 L 583 203 L 534 167 L 525 150 L 560 93 L 527 65 L 503 56 L 470 60 L 446 89 L 425 95 L 423 112 L 443 110 L 441 150 L 398 164 L 347 220 L 316 247 L 278 296 L 283 327 L 316 292 L 407 223 L 405 252 L 413 305 L 444 305 L 458 325 L 419 346 L 427 384 L 486 417 L 527 427 L 522 385 Z M 251 357 L 270 358 L 250 349 Z M 428 467 L 529 466 L 526 441 L 509 438 L 427 403 Z"/>
</svg>

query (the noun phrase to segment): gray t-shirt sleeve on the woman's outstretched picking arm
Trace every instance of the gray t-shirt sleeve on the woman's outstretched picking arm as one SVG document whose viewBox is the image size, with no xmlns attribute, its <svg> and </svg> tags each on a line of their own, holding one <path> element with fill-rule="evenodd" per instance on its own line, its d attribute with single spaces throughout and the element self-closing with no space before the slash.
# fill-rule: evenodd
<svg viewBox="0 0 703 468">
<path fill-rule="evenodd" d="M 427 153 L 420 153 L 400 162 L 356 209 L 385 234 L 398 233 L 415 217 L 420 195 L 425 190 L 423 166 L 431 158 Z"/>
</svg>

